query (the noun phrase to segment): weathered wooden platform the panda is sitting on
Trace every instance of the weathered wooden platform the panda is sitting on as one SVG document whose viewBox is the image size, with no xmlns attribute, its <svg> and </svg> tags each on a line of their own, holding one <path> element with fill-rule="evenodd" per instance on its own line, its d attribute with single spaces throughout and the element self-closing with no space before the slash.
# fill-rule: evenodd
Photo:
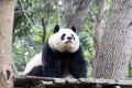
<svg viewBox="0 0 132 88">
<path fill-rule="evenodd" d="M 132 88 L 132 80 L 18 77 L 14 88 Z"/>
</svg>

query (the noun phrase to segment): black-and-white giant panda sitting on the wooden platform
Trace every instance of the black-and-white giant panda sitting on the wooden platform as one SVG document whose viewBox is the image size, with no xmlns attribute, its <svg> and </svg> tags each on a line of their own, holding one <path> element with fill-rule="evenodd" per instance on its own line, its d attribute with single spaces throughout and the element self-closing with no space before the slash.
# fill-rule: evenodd
<svg viewBox="0 0 132 88">
<path fill-rule="evenodd" d="M 34 61 L 37 63 L 37 58 Z M 25 75 L 86 78 L 87 66 L 76 28 L 59 29 L 56 25 L 53 35 L 44 44 L 40 65 L 32 68 Z"/>
</svg>

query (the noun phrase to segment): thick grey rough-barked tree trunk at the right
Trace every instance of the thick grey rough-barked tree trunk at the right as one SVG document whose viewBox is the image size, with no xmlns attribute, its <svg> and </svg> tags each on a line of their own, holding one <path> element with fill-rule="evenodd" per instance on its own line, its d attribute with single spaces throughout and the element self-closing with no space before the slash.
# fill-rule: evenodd
<svg viewBox="0 0 132 88">
<path fill-rule="evenodd" d="M 132 41 L 132 1 L 112 0 L 94 77 L 124 79 Z"/>
</svg>

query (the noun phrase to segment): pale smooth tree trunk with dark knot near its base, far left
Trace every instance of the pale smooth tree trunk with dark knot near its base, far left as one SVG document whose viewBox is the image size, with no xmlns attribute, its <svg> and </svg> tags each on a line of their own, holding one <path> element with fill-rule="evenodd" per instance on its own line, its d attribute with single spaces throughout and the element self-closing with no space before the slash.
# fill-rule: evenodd
<svg viewBox="0 0 132 88">
<path fill-rule="evenodd" d="M 15 0 L 0 0 L 0 88 L 13 87 L 11 40 L 14 3 Z"/>
</svg>

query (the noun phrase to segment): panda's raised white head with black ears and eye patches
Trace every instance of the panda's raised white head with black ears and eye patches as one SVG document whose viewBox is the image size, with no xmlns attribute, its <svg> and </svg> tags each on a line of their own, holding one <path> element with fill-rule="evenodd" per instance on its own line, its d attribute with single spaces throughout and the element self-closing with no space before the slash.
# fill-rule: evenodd
<svg viewBox="0 0 132 88">
<path fill-rule="evenodd" d="M 79 48 L 79 37 L 76 34 L 76 28 L 59 29 L 56 25 L 54 34 L 48 40 L 48 44 L 53 51 L 75 53 Z"/>
</svg>

